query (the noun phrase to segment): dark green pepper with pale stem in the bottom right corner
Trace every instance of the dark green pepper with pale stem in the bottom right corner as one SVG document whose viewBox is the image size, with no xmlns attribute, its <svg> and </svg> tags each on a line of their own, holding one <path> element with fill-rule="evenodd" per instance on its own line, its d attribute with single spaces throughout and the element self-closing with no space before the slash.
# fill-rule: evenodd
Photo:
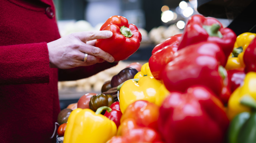
<svg viewBox="0 0 256 143">
<path fill-rule="evenodd" d="M 251 96 L 245 96 L 240 101 L 254 110 L 242 112 L 230 122 L 227 132 L 227 143 L 255 143 L 256 142 L 256 101 Z"/>
</svg>

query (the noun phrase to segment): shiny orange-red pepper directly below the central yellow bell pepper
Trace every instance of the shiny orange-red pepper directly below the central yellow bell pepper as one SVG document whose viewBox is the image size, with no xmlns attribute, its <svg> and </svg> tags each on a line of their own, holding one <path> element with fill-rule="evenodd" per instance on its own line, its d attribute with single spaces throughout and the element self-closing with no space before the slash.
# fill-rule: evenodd
<svg viewBox="0 0 256 143">
<path fill-rule="evenodd" d="M 125 119 L 135 119 L 136 124 L 142 127 L 157 129 L 159 106 L 144 100 L 131 103 L 123 113 L 120 122 Z"/>
</svg>

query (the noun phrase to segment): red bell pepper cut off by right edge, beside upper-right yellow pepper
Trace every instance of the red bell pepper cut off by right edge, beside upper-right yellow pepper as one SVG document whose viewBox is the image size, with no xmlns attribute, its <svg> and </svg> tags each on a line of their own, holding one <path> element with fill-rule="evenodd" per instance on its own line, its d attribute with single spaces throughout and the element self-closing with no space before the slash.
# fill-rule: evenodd
<svg viewBox="0 0 256 143">
<path fill-rule="evenodd" d="M 245 50 L 245 73 L 256 71 L 256 38 L 254 38 Z"/>
</svg>

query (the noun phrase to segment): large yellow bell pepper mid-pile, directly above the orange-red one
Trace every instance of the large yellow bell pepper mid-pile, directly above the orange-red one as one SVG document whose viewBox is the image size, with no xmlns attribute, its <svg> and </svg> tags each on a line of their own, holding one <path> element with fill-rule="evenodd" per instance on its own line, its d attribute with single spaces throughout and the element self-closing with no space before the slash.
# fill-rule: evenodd
<svg viewBox="0 0 256 143">
<path fill-rule="evenodd" d="M 155 103 L 158 88 L 161 82 L 150 76 L 143 76 L 138 83 L 134 80 L 127 80 L 119 91 L 120 110 L 124 113 L 127 106 L 137 100 L 146 100 Z"/>
</svg>

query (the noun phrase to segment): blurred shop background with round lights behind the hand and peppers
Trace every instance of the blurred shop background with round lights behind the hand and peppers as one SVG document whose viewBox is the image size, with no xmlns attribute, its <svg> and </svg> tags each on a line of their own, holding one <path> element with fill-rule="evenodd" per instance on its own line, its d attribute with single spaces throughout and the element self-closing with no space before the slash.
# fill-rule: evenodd
<svg viewBox="0 0 256 143">
<path fill-rule="evenodd" d="M 142 34 L 136 53 L 116 67 L 77 81 L 59 82 L 61 108 L 84 94 L 99 93 L 105 81 L 132 62 L 148 62 L 153 48 L 183 31 L 186 20 L 197 12 L 197 0 L 53 0 L 61 36 L 79 31 L 99 30 L 111 16 L 120 15 L 135 24 Z M 219 19 L 227 26 L 229 21 Z"/>
</svg>

